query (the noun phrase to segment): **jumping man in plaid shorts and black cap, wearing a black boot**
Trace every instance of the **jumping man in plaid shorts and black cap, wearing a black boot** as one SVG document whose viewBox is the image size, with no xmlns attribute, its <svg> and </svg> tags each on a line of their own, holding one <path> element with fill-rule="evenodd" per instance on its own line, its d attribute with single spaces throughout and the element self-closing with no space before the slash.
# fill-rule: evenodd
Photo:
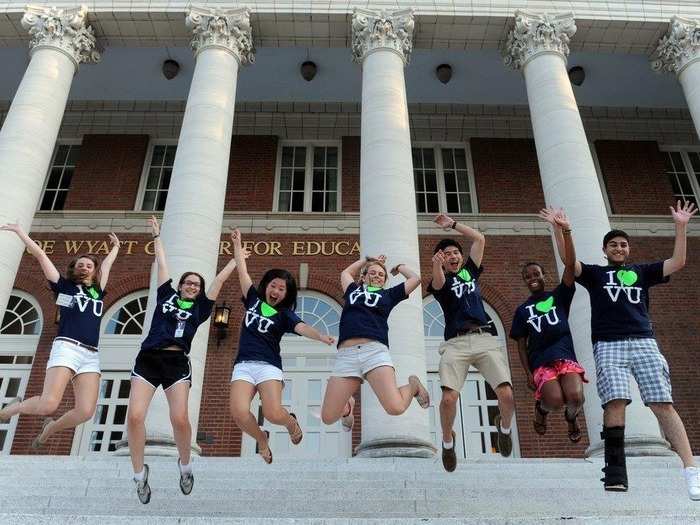
<svg viewBox="0 0 700 525">
<path fill-rule="evenodd" d="M 629 237 L 612 230 L 603 239 L 607 266 L 576 262 L 576 282 L 591 300 L 591 332 L 598 395 L 603 405 L 605 490 L 627 490 L 625 464 L 625 408 L 631 402 L 630 375 L 642 401 L 654 413 L 666 439 L 683 461 L 688 494 L 700 500 L 700 470 L 693 461 L 688 436 L 673 408 L 668 363 L 659 351 L 649 320 L 649 288 L 668 282 L 685 266 L 686 229 L 697 208 L 692 203 L 671 207 L 676 240 L 670 259 L 630 264 Z"/>
</svg>

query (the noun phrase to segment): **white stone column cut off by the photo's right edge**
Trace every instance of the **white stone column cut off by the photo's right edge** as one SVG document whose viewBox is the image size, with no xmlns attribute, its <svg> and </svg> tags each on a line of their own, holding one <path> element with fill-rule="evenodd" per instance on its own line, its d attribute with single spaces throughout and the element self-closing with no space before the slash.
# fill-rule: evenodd
<svg viewBox="0 0 700 525">
<path fill-rule="evenodd" d="M 700 20 L 674 16 L 668 33 L 659 41 L 651 67 L 678 76 L 700 137 Z"/>
</svg>

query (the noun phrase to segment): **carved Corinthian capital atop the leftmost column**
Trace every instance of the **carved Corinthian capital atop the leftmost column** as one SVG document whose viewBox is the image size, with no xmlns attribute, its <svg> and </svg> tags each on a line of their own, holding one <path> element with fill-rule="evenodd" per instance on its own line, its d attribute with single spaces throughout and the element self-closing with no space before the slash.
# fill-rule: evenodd
<svg viewBox="0 0 700 525">
<path fill-rule="evenodd" d="M 92 27 L 86 25 L 87 6 L 59 9 L 28 5 L 22 27 L 29 31 L 31 52 L 53 48 L 67 55 L 77 68 L 83 62 L 97 62 L 100 53 Z"/>
</svg>

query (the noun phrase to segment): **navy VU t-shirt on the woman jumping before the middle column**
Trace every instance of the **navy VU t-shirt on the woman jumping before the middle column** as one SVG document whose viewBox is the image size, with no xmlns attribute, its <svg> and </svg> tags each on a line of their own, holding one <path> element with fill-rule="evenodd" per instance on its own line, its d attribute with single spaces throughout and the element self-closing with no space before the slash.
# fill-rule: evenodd
<svg viewBox="0 0 700 525">
<path fill-rule="evenodd" d="M 340 315 L 338 346 L 346 339 L 365 338 L 389 346 L 389 314 L 406 295 L 405 283 L 391 288 L 366 287 L 352 283 L 345 289 Z"/>
</svg>

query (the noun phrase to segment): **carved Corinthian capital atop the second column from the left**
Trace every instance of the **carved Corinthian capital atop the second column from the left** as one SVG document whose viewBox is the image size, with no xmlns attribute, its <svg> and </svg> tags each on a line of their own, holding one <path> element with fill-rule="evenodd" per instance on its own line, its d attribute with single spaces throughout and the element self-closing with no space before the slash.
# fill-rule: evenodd
<svg viewBox="0 0 700 525">
<path fill-rule="evenodd" d="M 241 65 L 255 62 L 250 9 L 191 7 L 185 18 L 192 30 L 190 46 L 195 56 L 209 47 L 225 49 Z"/>
</svg>

